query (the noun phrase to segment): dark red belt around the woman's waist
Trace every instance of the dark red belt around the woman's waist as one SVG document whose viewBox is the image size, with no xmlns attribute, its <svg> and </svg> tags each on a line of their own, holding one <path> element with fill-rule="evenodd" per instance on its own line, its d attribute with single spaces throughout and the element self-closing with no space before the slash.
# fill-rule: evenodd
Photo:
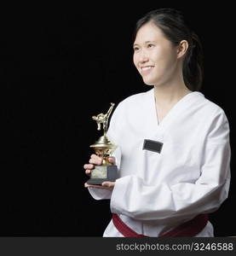
<svg viewBox="0 0 236 256">
<path fill-rule="evenodd" d="M 124 237 L 148 237 L 131 230 L 129 226 L 124 224 L 122 219 L 119 218 L 116 213 L 112 213 L 112 221 L 115 227 Z M 207 222 L 208 214 L 199 214 L 195 218 L 177 226 L 175 229 L 170 230 L 159 237 L 196 236 L 201 230 L 204 229 Z"/>
</svg>

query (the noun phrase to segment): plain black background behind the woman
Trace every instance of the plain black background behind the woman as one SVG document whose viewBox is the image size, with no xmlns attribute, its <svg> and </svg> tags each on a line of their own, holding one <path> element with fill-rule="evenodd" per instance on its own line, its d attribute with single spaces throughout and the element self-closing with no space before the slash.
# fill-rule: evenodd
<svg viewBox="0 0 236 256">
<path fill-rule="evenodd" d="M 0 236 L 102 236 L 109 201 L 83 188 L 100 136 L 91 116 L 150 90 L 132 63 L 131 36 L 136 20 L 160 7 L 182 10 L 199 34 L 201 91 L 227 113 L 232 184 L 210 219 L 216 236 L 236 235 L 233 10 L 160 2 L 1 8 Z"/>
</svg>

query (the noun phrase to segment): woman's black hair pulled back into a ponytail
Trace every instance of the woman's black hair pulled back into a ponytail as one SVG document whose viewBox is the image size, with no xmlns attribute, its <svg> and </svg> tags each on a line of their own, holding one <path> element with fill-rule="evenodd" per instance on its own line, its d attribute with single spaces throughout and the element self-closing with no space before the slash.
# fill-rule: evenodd
<svg viewBox="0 0 236 256">
<path fill-rule="evenodd" d="M 184 57 L 182 73 L 184 82 L 189 90 L 199 90 L 203 82 L 203 48 L 197 34 L 191 31 L 181 11 L 164 8 L 153 10 L 137 21 L 134 32 L 134 41 L 141 26 L 153 22 L 162 30 L 164 36 L 174 45 L 186 40 L 187 53 Z"/>
</svg>

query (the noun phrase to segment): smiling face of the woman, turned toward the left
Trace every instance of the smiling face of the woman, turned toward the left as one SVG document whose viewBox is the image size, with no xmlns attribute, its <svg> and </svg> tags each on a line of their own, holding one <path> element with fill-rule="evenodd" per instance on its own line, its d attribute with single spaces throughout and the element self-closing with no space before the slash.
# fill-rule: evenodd
<svg viewBox="0 0 236 256">
<path fill-rule="evenodd" d="M 177 48 L 148 22 L 136 34 L 133 60 L 145 84 L 166 84 L 176 74 Z"/>
</svg>

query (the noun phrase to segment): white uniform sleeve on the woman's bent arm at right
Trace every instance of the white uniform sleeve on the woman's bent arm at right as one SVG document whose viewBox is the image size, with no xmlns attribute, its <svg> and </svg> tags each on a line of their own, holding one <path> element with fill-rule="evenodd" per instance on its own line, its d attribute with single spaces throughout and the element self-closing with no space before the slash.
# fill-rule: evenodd
<svg viewBox="0 0 236 256">
<path fill-rule="evenodd" d="M 150 186 L 134 175 L 118 178 L 112 191 L 112 212 L 141 220 L 184 217 L 214 212 L 227 199 L 230 183 L 229 126 L 218 115 L 207 132 L 195 183 Z"/>
</svg>

